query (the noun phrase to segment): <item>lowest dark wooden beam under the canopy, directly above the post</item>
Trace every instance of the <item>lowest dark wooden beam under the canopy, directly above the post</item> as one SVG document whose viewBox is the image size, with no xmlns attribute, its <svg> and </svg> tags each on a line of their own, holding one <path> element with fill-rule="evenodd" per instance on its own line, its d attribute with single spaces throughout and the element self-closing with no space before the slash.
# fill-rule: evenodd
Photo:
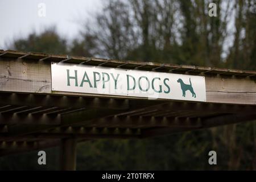
<svg viewBox="0 0 256 182">
<path fill-rule="evenodd" d="M 12 137 L 8 135 L 2 135 L 1 140 L 5 144 L 13 146 L 15 144 L 16 148 L 20 148 L 22 141 L 34 142 L 35 140 L 49 140 L 49 139 L 61 139 L 61 138 L 77 138 L 79 140 L 84 139 L 100 139 L 100 138 L 109 138 L 109 139 L 128 139 L 128 138 L 140 138 L 141 129 L 129 129 L 129 128 L 97 128 L 97 127 L 56 127 L 55 129 L 40 131 L 35 134 L 28 134 L 19 137 Z M 15 143 L 13 144 L 12 142 Z M 2 147 L 3 148 L 3 147 Z M 1 149 L 1 147 L 0 147 Z"/>
</svg>

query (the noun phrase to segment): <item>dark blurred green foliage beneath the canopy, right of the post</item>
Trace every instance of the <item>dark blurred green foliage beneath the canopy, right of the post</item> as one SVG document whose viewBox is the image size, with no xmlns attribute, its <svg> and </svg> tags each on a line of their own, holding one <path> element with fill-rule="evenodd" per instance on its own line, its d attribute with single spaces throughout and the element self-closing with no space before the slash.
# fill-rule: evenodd
<svg viewBox="0 0 256 182">
<path fill-rule="evenodd" d="M 255 126 L 250 122 L 157 138 L 87 141 L 79 144 L 77 169 L 253 170 Z M 208 164 L 211 150 L 217 152 L 217 166 Z"/>
</svg>

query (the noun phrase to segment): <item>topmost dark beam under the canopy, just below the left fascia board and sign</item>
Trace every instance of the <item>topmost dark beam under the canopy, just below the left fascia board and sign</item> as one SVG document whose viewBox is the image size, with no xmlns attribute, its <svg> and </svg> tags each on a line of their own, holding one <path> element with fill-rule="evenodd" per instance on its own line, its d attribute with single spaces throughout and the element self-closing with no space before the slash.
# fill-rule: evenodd
<svg viewBox="0 0 256 182">
<path fill-rule="evenodd" d="M 79 109 L 85 108 L 108 108 L 108 109 L 128 109 L 129 101 L 114 98 L 97 97 L 77 97 L 58 96 L 46 94 L 26 94 L 26 93 L 6 93 L 0 92 L 0 105 L 25 105 L 26 106 L 51 106 L 51 107 L 71 107 Z M 7 109 L 7 108 L 6 108 Z"/>
</svg>

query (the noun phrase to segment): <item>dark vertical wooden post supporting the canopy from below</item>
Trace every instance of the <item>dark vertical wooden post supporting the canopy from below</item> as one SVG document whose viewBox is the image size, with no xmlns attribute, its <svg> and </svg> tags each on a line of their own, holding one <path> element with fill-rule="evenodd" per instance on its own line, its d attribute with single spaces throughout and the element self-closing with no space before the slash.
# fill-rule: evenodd
<svg viewBox="0 0 256 182">
<path fill-rule="evenodd" d="M 63 171 L 76 170 L 76 142 L 75 138 L 60 141 L 60 169 Z"/>
</svg>

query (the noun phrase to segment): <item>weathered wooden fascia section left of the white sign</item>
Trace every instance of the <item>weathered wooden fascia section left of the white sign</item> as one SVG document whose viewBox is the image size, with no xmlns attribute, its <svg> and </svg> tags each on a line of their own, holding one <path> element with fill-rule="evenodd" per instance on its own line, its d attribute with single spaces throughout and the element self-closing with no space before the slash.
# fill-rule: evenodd
<svg viewBox="0 0 256 182">
<path fill-rule="evenodd" d="M 42 61 L 1 58 L 0 90 L 49 93 L 51 90 L 51 69 Z"/>
</svg>

